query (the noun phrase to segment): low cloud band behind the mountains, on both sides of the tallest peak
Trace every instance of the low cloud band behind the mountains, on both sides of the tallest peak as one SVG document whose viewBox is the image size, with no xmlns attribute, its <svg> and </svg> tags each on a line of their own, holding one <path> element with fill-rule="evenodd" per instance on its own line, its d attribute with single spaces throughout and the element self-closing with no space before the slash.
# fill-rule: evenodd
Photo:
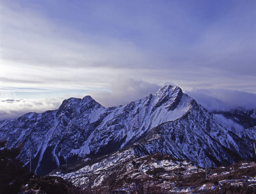
<svg viewBox="0 0 256 194">
<path fill-rule="evenodd" d="M 166 83 L 166 85 L 174 85 Z M 101 103 L 104 107 L 126 105 L 131 101 L 136 101 L 154 94 L 161 86 L 151 84 L 142 80 L 134 80 L 125 77 L 119 77 L 114 80 L 109 89 L 94 89 L 76 93 L 73 97 L 83 98 L 84 95 L 91 95 L 93 99 Z M 183 91 L 191 95 L 198 103 L 208 110 L 228 110 L 231 108 L 244 107 L 246 109 L 256 109 L 256 94 L 231 91 L 226 89 L 194 89 L 193 91 Z M 64 99 L 71 97 L 73 92 L 61 94 L 55 98 L 41 99 L 18 99 L 13 98 L 0 99 L 0 120 L 16 119 L 28 112 L 41 113 L 45 110 L 57 109 Z M 74 93 L 73 93 L 74 94 Z M 222 121 L 221 117 L 218 119 Z M 237 128 L 237 126 L 235 126 Z"/>
</svg>

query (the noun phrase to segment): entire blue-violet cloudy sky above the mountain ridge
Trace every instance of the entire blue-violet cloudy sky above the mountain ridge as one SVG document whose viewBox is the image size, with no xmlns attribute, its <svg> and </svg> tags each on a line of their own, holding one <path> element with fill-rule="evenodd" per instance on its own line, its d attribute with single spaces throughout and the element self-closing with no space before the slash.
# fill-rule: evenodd
<svg viewBox="0 0 256 194">
<path fill-rule="evenodd" d="M 0 120 L 84 95 L 120 105 L 166 84 L 254 108 L 255 10 L 254 0 L 0 0 Z"/>
</svg>

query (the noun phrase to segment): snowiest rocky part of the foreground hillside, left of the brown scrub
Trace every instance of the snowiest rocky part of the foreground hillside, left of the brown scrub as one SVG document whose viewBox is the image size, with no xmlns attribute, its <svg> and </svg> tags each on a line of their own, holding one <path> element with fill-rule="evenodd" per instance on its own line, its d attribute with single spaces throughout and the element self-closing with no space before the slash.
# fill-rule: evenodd
<svg viewBox="0 0 256 194">
<path fill-rule="evenodd" d="M 150 180 L 163 182 L 179 176 L 189 176 L 198 172 L 201 168 L 195 167 L 188 161 L 176 161 L 168 155 L 153 154 L 137 156 L 134 149 L 116 151 L 116 153 L 104 158 L 100 162 L 86 165 L 80 170 L 62 174 L 55 172 L 55 176 L 61 176 L 76 186 L 85 188 L 129 188 L 136 180 Z"/>
</svg>

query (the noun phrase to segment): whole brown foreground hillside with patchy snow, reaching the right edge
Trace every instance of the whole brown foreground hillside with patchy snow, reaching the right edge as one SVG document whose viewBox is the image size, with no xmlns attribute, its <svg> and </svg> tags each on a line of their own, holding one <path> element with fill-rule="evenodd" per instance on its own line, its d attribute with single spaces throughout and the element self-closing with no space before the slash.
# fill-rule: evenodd
<svg viewBox="0 0 256 194">
<path fill-rule="evenodd" d="M 98 192 L 125 190 L 133 193 L 139 188 L 145 189 L 145 193 L 174 193 L 175 190 L 185 193 L 227 193 L 232 190 L 238 191 L 234 193 L 245 193 L 241 191 L 247 189 L 256 191 L 254 162 L 241 161 L 228 167 L 200 168 L 186 160 L 175 160 L 170 155 L 157 153 L 139 157 L 134 154 L 132 148 L 117 151 L 106 158 L 98 158 L 99 161 L 95 163 L 84 161 L 83 167 L 78 170 L 78 163 L 70 164 L 69 171 L 72 172 L 68 174 L 64 168 L 52 175 L 62 177 L 80 188 Z M 224 180 L 229 180 L 230 184 L 225 184 Z M 147 189 L 151 192 L 146 192 Z"/>
</svg>

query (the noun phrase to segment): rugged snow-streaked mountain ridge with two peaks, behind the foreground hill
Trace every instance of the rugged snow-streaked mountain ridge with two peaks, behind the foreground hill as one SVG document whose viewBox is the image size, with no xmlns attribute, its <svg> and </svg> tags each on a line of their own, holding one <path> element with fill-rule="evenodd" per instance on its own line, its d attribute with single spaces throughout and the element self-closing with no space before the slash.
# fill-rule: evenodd
<svg viewBox="0 0 256 194">
<path fill-rule="evenodd" d="M 109 154 L 136 142 L 138 154 L 159 151 L 196 164 L 205 158 L 208 165 L 219 165 L 251 157 L 241 137 L 216 123 L 177 86 L 119 107 L 104 108 L 90 96 L 71 98 L 57 110 L 1 122 L 0 134 L 9 148 L 22 143 L 24 162 L 31 149 L 37 174 L 64 164 L 64 157 Z"/>
</svg>

